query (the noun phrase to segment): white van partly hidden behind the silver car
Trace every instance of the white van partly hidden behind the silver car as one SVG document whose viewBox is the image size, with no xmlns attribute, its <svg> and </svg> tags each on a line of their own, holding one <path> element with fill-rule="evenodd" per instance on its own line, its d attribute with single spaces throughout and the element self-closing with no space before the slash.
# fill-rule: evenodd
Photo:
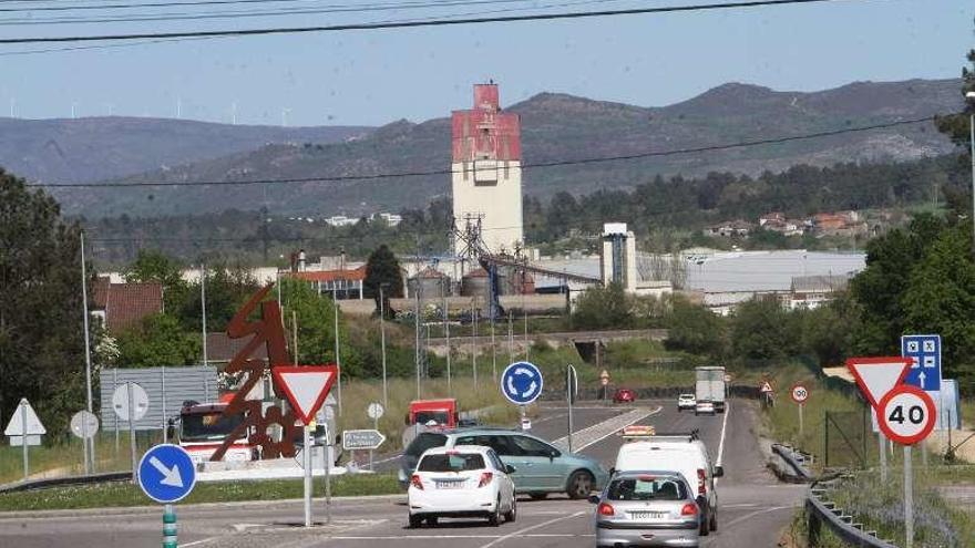
<svg viewBox="0 0 975 548">
<path fill-rule="evenodd" d="M 718 493 L 715 478 L 725 471 L 712 467 L 704 442 L 692 434 L 679 436 L 632 436 L 616 455 L 612 474 L 628 471 L 673 471 L 680 473 L 697 490 L 701 509 L 700 534 L 718 530 Z"/>
</svg>

